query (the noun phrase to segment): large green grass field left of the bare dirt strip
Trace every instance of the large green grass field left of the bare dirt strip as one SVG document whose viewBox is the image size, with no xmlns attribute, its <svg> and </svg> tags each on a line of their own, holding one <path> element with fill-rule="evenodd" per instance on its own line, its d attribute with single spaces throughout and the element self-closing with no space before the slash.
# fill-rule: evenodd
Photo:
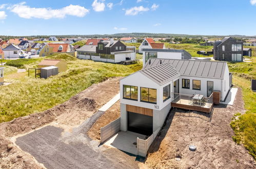
<svg viewBox="0 0 256 169">
<path fill-rule="evenodd" d="M 48 79 L 25 76 L 19 82 L 0 87 L 0 122 L 45 111 L 63 103 L 93 83 L 109 77 L 127 76 L 142 68 L 141 63 L 124 66 L 92 60 L 67 60 L 66 72 Z"/>
</svg>

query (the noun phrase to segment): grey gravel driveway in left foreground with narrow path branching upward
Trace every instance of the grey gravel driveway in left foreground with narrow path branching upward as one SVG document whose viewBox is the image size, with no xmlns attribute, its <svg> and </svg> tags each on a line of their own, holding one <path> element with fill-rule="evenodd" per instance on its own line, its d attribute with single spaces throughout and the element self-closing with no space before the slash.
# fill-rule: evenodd
<svg viewBox="0 0 256 169">
<path fill-rule="evenodd" d="M 103 113 L 95 113 L 72 133 L 49 125 L 17 138 L 16 144 L 47 168 L 129 168 L 131 164 L 126 159 L 107 155 L 106 148 L 86 134 Z"/>
</svg>

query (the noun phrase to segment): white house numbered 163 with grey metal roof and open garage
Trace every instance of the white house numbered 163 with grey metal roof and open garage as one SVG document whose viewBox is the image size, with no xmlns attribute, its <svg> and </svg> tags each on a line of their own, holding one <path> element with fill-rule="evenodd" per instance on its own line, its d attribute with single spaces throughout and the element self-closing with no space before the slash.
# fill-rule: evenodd
<svg viewBox="0 0 256 169">
<path fill-rule="evenodd" d="M 181 104 L 188 109 L 193 94 L 203 95 L 205 102 L 199 105 L 191 99 L 192 108 L 209 106 L 211 111 L 212 99 L 225 100 L 231 79 L 227 62 L 152 58 L 142 70 L 120 80 L 121 131 L 150 136 L 177 101 L 187 99 Z M 213 96 L 215 91 L 220 95 Z"/>
</svg>

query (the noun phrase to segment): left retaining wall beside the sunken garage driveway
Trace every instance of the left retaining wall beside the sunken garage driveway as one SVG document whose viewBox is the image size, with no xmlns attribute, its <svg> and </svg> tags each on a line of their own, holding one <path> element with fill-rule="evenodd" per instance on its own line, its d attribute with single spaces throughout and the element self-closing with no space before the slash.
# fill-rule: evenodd
<svg viewBox="0 0 256 169">
<path fill-rule="evenodd" d="M 112 137 L 115 133 L 120 131 L 120 118 L 112 121 L 108 125 L 101 128 L 101 143 Z"/>
</svg>

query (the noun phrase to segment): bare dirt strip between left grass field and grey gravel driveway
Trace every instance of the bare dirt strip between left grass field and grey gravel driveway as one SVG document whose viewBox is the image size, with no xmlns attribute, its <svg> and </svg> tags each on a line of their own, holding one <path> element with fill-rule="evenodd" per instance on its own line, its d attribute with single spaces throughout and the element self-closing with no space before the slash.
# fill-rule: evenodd
<svg viewBox="0 0 256 169">
<path fill-rule="evenodd" d="M 119 93 L 119 80 L 120 78 L 112 78 L 102 83 L 94 84 L 70 100 L 56 105 L 52 109 L 1 123 L 0 168 L 44 168 L 45 166 L 38 163 L 32 155 L 22 151 L 15 144 L 16 138 L 25 138 L 26 135 L 29 136 L 35 130 L 42 130 L 48 125 L 60 129 L 62 133 L 72 133 L 81 123 L 86 121 L 86 119 L 91 117 L 99 108 Z M 41 137 L 44 136 L 41 135 Z M 29 146 L 32 147 L 32 145 Z M 115 150 L 107 151 L 109 152 L 108 154 L 111 154 Z M 119 154 L 125 156 L 124 159 L 131 158 L 123 152 L 119 152 Z M 134 159 L 131 161 L 130 165 L 133 166 Z"/>
</svg>

